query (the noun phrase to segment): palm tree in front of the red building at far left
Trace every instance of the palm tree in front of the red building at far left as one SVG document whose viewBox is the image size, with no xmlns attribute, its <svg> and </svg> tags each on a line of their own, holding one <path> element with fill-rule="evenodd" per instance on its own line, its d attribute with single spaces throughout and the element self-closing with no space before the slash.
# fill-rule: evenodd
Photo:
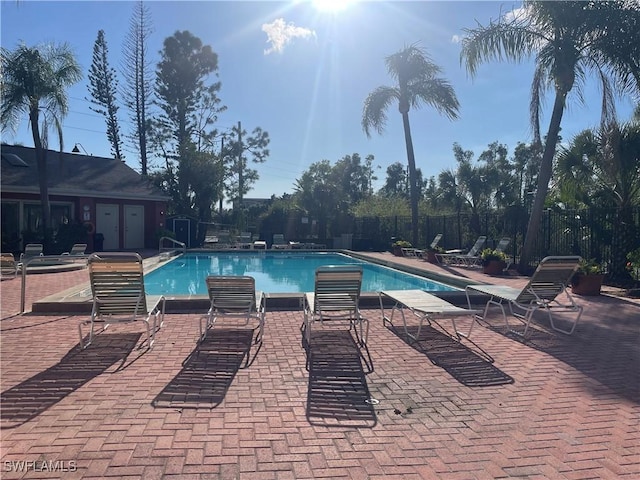
<svg viewBox="0 0 640 480">
<path fill-rule="evenodd" d="M 2 130 L 15 128 L 20 117 L 29 115 L 33 136 L 42 207 L 42 235 L 49 244 L 51 211 L 47 175 L 49 125 L 62 138 L 61 119 L 68 111 L 66 88 L 80 81 L 80 66 L 66 44 L 29 48 L 19 45 L 14 51 L 2 48 Z M 42 114 L 42 132 L 40 115 Z M 62 144 L 61 144 L 62 148 Z"/>
</svg>

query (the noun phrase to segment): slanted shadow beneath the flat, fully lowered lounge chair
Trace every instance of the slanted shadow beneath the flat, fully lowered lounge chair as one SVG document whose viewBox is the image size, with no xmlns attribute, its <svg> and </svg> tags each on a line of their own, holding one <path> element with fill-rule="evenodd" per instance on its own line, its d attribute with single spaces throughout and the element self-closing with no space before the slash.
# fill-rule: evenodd
<svg viewBox="0 0 640 480">
<path fill-rule="evenodd" d="M 387 328 L 407 345 L 425 354 L 431 363 L 441 367 L 467 387 L 493 387 L 514 383 L 514 379 L 496 367 L 491 356 L 484 353 L 475 343 L 473 345 L 483 355 L 430 325 L 422 326 L 417 340 L 407 337 L 404 328 L 400 329 L 390 323 Z M 407 331 L 416 337 L 418 326 L 407 326 Z M 470 340 L 466 339 L 465 342 Z"/>
</svg>

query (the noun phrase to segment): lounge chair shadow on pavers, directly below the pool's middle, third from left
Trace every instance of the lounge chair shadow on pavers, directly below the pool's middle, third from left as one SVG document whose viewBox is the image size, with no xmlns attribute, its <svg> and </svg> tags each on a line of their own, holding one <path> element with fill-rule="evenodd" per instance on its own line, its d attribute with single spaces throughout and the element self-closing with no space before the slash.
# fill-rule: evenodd
<svg viewBox="0 0 640 480">
<path fill-rule="evenodd" d="M 366 347 L 364 347 L 366 350 Z M 372 428 L 377 423 L 367 386 L 365 364 L 351 333 L 316 331 L 307 349 L 309 386 L 307 420 L 325 427 Z M 369 372 L 373 371 L 367 366 Z"/>
</svg>

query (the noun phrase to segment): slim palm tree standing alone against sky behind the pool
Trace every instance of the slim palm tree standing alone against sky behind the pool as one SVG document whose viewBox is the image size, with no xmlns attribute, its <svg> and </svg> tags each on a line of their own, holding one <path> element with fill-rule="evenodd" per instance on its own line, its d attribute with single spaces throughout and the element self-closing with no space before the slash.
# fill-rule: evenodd
<svg viewBox="0 0 640 480">
<path fill-rule="evenodd" d="M 389 75 L 397 81 L 397 85 L 381 86 L 369 94 L 364 102 L 362 128 L 367 137 L 371 136 L 371 128 L 382 134 L 387 123 L 387 107 L 398 102 L 409 166 L 412 240 L 416 245 L 418 243 L 418 178 L 409 125 L 409 109 L 426 103 L 450 119 L 456 119 L 459 103 L 453 87 L 448 81 L 438 76 L 441 73 L 440 67 L 433 63 L 424 49 L 416 45 L 405 47 L 388 56 L 385 63 Z"/>
</svg>

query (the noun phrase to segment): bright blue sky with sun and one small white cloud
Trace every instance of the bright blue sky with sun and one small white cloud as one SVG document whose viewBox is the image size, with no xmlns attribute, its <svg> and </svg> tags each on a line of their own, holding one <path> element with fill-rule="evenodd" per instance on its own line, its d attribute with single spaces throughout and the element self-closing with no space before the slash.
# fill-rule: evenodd
<svg viewBox="0 0 640 480">
<path fill-rule="evenodd" d="M 473 78 L 460 63 L 464 29 L 487 25 L 518 8 L 519 2 L 148 1 L 145 5 L 153 28 L 147 47 L 154 68 L 164 39 L 188 30 L 218 54 L 219 96 L 227 107 L 216 123 L 218 130 L 228 132 L 241 122 L 248 132 L 261 127 L 269 133 L 270 155 L 265 163 L 254 165 L 260 179 L 245 198 L 292 193 L 312 163 L 335 163 L 353 153 L 363 159 L 375 157 L 376 189 L 384 184 L 388 165 L 406 164 L 397 105 L 389 108 L 382 135 L 373 132 L 367 138 L 361 119 L 367 95 L 378 86 L 393 86 L 385 57 L 408 45 L 425 49 L 442 68 L 461 107 L 453 121 L 429 106 L 409 113 L 416 165 L 425 178 L 455 168 L 454 142 L 477 158 L 495 141 L 505 144 L 511 155 L 518 142 L 532 140 L 533 63 L 485 63 Z M 20 42 L 71 47 L 84 78 L 68 90 L 64 150 L 71 151 L 78 143 L 83 152 L 110 157 L 104 117 L 89 108 L 87 72 L 101 29 L 109 63 L 120 70 L 134 2 L 2 0 L 0 8 L 3 48 L 14 49 Z M 600 97 L 597 82 L 590 80 L 582 102 L 575 94 L 569 99 L 561 132 L 565 141 L 598 125 Z M 549 92 L 542 132 L 548 126 L 552 100 Z M 629 119 L 631 112 L 631 102 L 621 99 L 619 118 Z M 129 113 L 121 107 L 119 117 L 121 130 L 129 133 Z M 15 133 L 2 132 L 2 141 L 33 146 L 26 116 Z M 52 148 L 57 149 L 57 143 Z M 125 161 L 139 170 L 137 156 L 126 144 Z"/>
</svg>

